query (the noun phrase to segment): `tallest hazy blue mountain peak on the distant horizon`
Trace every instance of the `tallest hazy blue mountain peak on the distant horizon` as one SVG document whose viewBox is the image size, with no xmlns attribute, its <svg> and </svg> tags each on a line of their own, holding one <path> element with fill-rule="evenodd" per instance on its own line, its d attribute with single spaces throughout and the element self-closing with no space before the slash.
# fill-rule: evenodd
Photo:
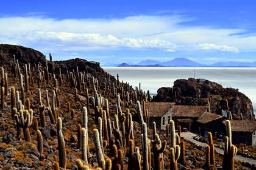
<svg viewBox="0 0 256 170">
<path fill-rule="evenodd" d="M 199 67 L 199 66 L 202 66 L 202 64 L 188 60 L 187 58 L 175 58 L 174 60 L 160 63 L 160 65 L 166 66 L 166 67 Z"/>
</svg>

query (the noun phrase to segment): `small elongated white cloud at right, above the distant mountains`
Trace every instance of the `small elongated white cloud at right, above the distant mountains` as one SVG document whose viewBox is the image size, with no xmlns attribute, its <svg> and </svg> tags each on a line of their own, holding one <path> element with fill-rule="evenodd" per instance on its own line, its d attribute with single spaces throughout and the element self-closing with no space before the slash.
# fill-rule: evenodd
<svg viewBox="0 0 256 170">
<path fill-rule="evenodd" d="M 238 49 L 236 49 L 235 47 L 229 47 L 229 46 L 217 46 L 215 44 L 199 44 L 199 49 L 202 50 L 220 50 L 222 52 L 238 52 Z"/>
</svg>

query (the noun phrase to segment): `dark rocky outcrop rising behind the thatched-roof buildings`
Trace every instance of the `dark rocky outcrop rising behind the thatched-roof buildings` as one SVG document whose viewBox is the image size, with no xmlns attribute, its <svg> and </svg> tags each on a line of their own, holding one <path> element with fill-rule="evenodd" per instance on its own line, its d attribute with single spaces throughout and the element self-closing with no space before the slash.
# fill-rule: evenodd
<svg viewBox="0 0 256 170">
<path fill-rule="evenodd" d="M 175 99 L 176 94 L 176 99 Z M 221 114 L 222 109 L 227 109 L 226 100 L 229 101 L 229 110 L 233 119 L 249 119 L 253 111 L 251 100 L 238 91 L 238 89 L 224 88 L 221 84 L 201 79 L 180 79 L 174 82 L 173 87 L 162 87 L 157 90 L 153 101 L 176 101 L 182 105 L 207 105 L 210 101 L 213 113 Z"/>
</svg>

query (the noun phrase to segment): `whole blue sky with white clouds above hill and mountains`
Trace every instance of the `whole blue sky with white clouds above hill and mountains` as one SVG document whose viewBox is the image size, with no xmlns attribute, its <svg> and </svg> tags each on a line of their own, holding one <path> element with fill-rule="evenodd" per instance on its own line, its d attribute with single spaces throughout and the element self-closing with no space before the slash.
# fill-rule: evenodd
<svg viewBox="0 0 256 170">
<path fill-rule="evenodd" d="M 3 1 L 0 43 L 103 66 L 256 61 L 254 1 Z"/>
</svg>

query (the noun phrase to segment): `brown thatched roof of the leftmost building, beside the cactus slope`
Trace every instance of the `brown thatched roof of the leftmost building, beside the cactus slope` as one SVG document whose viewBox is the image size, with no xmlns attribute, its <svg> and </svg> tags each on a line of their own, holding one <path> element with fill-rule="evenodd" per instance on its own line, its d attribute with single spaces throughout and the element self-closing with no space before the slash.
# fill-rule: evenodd
<svg viewBox="0 0 256 170">
<path fill-rule="evenodd" d="M 171 102 L 146 102 L 149 117 L 162 117 L 168 112 L 175 103 Z"/>
</svg>

